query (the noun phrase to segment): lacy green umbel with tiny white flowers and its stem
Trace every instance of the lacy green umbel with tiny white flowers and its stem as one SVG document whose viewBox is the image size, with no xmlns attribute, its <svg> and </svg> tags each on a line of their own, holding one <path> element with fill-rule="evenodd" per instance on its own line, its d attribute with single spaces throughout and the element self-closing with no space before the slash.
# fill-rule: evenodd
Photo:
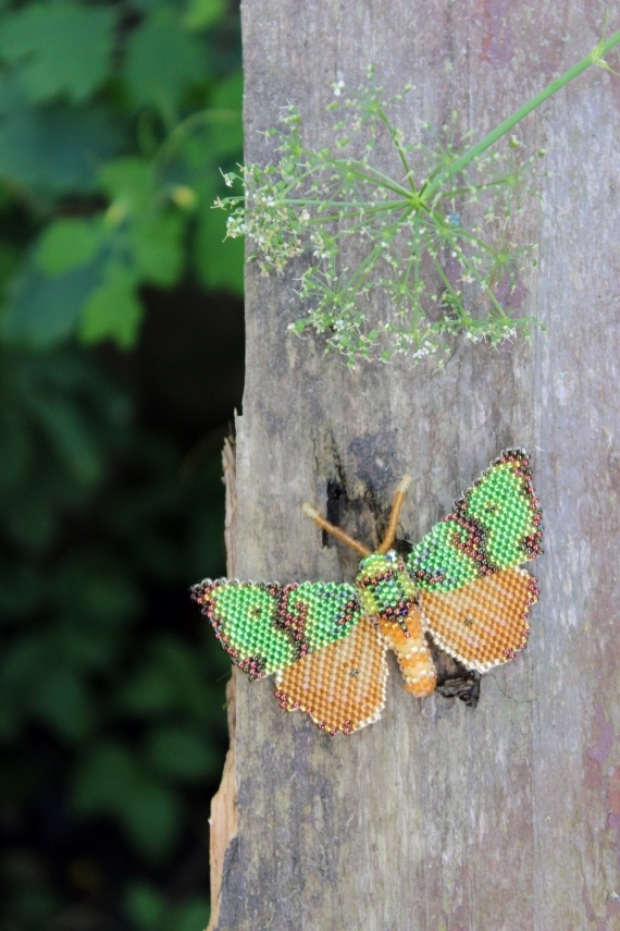
<svg viewBox="0 0 620 931">
<path fill-rule="evenodd" d="M 349 365 L 409 353 L 433 355 L 441 366 L 455 334 L 492 344 L 528 334 L 536 321 L 518 309 L 531 249 L 510 242 L 507 221 L 537 156 L 523 156 L 513 130 L 591 64 L 607 66 L 604 56 L 619 41 L 617 33 L 599 42 L 475 145 L 456 140 L 449 126 L 434 133 L 427 125 L 406 142 L 388 115 L 401 98 L 384 100 L 373 69 L 358 90 L 338 82 L 328 107 L 337 117 L 334 148 L 307 147 L 290 106 L 268 133 L 277 161 L 224 175 L 228 186 L 243 186 L 216 201 L 230 213 L 227 236 L 248 237 L 263 273 L 308 260 L 301 271 L 295 265 L 306 314 L 289 329 L 326 334 Z M 385 134 L 397 176 L 374 160 Z M 498 150 L 500 139 L 508 145 Z"/>
</svg>

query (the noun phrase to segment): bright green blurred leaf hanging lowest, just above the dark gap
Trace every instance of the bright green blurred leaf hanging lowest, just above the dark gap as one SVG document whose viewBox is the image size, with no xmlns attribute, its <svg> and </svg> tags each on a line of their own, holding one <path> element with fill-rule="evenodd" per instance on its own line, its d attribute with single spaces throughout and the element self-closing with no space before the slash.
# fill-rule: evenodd
<svg viewBox="0 0 620 931">
<path fill-rule="evenodd" d="M 84 303 L 79 338 L 86 344 L 112 340 L 121 348 L 131 348 L 142 314 L 135 274 L 120 266 L 109 266 L 106 280 Z"/>
</svg>

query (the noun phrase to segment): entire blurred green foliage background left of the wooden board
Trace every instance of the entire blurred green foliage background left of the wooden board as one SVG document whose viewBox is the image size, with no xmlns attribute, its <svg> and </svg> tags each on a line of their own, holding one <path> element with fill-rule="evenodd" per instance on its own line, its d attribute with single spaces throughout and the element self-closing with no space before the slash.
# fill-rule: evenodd
<svg viewBox="0 0 620 931">
<path fill-rule="evenodd" d="M 198 931 L 228 663 L 225 0 L 0 3 L 0 927 Z"/>
</svg>

